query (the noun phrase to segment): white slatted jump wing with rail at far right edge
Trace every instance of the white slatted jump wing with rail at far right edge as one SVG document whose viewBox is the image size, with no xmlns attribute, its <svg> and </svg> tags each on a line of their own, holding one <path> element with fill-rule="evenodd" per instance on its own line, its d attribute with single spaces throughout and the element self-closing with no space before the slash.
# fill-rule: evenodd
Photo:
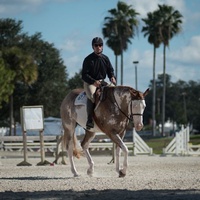
<svg viewBox="0 0 200 200">
<path fill-rule="evenodd" d="M 182 126 L 181 131 L 177 132 L 173 140 L 163 148 L 163 154 L 171 155 L 200 155 L 200 145 L 193 145 L 190 141 L 189 126 L 185 129 Z"/>
</svg>

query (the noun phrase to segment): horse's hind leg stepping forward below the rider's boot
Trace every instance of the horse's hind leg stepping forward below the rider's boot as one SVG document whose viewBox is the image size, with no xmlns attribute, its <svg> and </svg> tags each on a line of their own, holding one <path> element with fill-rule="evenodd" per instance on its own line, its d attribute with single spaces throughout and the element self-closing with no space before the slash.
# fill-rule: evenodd
<svg viewBox="0 0 200 200">
<path fill-rule="evenodd" d="M 95 137 L 94 132 L 90 132 L 90 131 L 86 130 L 85 137 L 83 138 L 83 141 L 81 142 L 81 146 L 83 148 L 83 151 L 85 153 L 85 156 L 86 156 L 88 164 L 89 164 L 89 168 L 87 170 L 87 174 L 89 176 L 92 176 L 94 173 L 94 161 L 92 160 L 92 157 L 89 152 L 89 144 L 94 139 L 94 137 Z"/>
</svg>

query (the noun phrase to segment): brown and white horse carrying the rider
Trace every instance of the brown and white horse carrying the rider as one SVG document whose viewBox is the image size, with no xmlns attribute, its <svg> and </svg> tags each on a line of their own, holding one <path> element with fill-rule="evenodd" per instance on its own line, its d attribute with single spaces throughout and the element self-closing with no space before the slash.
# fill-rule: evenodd
<svg viewBox="0 0 200 200">
<path fill-rule="evenodd" d="M 105 133 L 116 144 L 116 171 L 119 177 L 125 177 L 128 167 L 128 148 L 123 142 L 125 130 L 129 120 L 133 120 L 136 131 L 143 127 L 143 112 L 146 107 L 144 93 L 129 86 L 106 86 L 103 87 L 101 95 L 96 95 L 96 107 L 93 119 L 94 128 L 86 129 L 87 97 L 83 89 L 72 90 L 63 100 L 60 107 L 62 126 L 64 130 L 63 144 L 66 147 L 71 172 L 74 177 L 79 176 L 74 157 L 80 158 L 81 150 L 77 148 L 77 138 L 75 134 L 76 125 L 79 124 L 85 129 L 85 135 L 81 141 L 82 153 L 87 158 L 89 168 L 87 174 L 94 173 L 94 162 L 89 152 L 89 144 L 95 137 L 95 132 Z M 78 103 L 77 103 L 78 102 Z M 123 166 L 120 169 L 119 155 L 123 151 Z"/>
</svg>

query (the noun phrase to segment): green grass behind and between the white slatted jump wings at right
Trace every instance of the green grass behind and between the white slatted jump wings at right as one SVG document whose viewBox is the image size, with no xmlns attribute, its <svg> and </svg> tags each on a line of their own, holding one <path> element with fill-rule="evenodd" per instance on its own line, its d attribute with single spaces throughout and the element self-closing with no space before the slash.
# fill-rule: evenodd
<svg viewBox="0 0 200 200">
<path fill-rule="evenodd" d="M 153 148 L 154 154 L 162 154 L 163 148 L 165 148 L 173 139 L 173 137 L 149 137 L 143 138 L 147 145 Z M 196 145 L 200 144 L 200 135 L 190 136 L 190 143 Z"/>
</svg>

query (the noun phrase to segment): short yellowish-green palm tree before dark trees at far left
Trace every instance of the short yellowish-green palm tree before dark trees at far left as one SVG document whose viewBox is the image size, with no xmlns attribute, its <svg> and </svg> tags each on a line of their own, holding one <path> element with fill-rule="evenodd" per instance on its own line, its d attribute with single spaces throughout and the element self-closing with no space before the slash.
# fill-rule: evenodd
<svg viewBox="0 0 200 200">
<path fill-rule="evenodd" d="M 18 82 L 31 84 L 37 80 L 37 65 L 32 56 L 23 52 L 17 47 L 7 48 L 2 51 L 2 58 L 5 63 L 5 67 L 11 70 L 14 74 L 11 84 L 10 95 L 10 135 L 12 133 L 13 125 L 13 91 L 15 84 Z"/>
</svg>

